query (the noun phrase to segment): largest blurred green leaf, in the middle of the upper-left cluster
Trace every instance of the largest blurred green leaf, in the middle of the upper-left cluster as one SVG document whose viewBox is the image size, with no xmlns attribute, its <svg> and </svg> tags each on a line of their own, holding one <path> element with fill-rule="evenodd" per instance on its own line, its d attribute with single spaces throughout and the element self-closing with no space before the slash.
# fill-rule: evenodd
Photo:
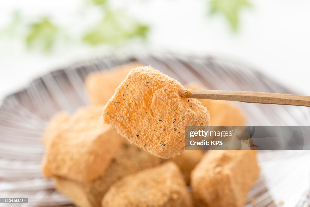
<svg viewBox="0 0 310 207">
<path fill-rule="evenodd" d="M 124 11 L 108 10 L 104 18 L 82 40 L 91 45 L 117 45 L 131 38 L 145 39 L 148 30 L 147 25 L 139 23 Z"/>
</svg>

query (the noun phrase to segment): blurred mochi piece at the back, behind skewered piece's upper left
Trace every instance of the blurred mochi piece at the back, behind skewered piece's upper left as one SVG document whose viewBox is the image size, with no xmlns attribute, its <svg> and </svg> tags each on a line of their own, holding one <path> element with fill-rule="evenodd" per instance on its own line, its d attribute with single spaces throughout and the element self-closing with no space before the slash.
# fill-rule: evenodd
<svg viewBox="0 0 310 207">
<path fill-rule="evenodd" d="M 131 62 L 111 70 L 89 74 L 85 80 L 85 87 L 91 104 L 105 105 L 113 95 L 115 88 L 126 78 L 129 71 L 139 66 L 142 66 L 139 62 Z"/>
</svg>

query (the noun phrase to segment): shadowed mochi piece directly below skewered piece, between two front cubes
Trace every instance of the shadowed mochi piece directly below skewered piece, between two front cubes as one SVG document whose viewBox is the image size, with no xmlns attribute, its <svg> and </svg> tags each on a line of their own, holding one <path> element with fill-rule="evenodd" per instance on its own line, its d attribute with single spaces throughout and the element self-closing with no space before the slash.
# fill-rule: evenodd
<svg viewBox="0 0 310 207">
<path fill-rule="evenodd" d="M 187 185 L 190 184 L 192 170 L 199 163 L 203 154 L 203 150 L 184 150 L 180 155 L 169 159 L 179 166 Z"/>
</svg>

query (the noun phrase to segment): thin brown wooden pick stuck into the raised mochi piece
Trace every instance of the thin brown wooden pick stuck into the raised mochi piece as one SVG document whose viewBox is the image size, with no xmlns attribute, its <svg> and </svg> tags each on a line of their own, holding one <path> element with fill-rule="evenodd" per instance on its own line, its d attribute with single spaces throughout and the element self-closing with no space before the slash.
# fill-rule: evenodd
<svg viewBox="0 0 310 207">
<path fill-rule="evenodd" d="M 185 94 L 185 97 L 310 107 L 310 96 L 290 95 L 281 93 L 264 93 L 253 91 L 190 90 L 190 92 Z"/>
</svg>

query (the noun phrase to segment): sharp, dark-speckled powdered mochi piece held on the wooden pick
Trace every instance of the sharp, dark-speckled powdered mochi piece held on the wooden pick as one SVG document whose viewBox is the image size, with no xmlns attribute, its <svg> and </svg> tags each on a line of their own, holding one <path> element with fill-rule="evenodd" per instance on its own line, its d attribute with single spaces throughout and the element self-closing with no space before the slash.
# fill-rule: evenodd
<svg viewBox="0 0 310 207">
<path fill-rule="evenodd" d="M 208 126 L 210 116 L 185 88 L 151 66 L 130 71 L 104 107 L 103 118 L 153 155 L 170 158 L 185 148 L 185 126 Z"/>
</svg>

